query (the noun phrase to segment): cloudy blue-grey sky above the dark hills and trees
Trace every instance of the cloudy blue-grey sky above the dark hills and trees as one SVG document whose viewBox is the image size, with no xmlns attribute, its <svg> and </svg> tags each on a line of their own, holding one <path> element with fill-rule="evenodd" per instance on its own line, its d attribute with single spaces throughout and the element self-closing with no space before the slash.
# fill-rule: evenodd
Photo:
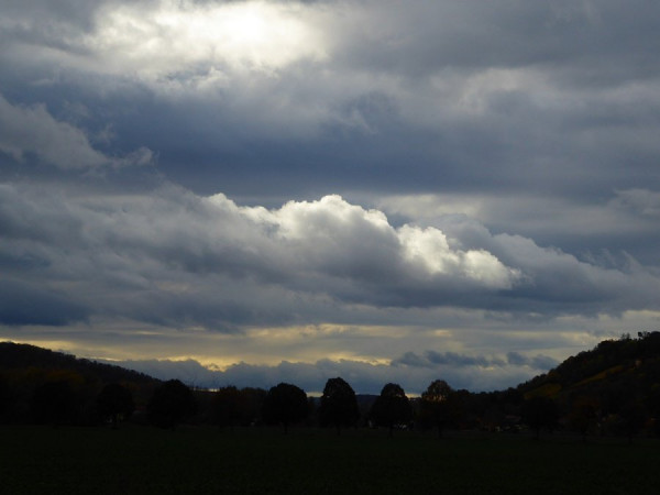
<svg viewBox="0 0 660 495">
<path fill-rule="evenodd" d="M 419 394 L 660 329 L 658 2 L 0 13 L 0 340 Z"/>
</svg>

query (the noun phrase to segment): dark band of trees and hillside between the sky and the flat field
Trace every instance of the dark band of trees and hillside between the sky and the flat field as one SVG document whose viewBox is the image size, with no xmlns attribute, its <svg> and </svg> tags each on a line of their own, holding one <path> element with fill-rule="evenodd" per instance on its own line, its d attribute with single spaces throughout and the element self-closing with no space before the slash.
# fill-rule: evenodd
<svg viewBox="0 0 660 495">
<path fill-rule="evenodd" d="M 414 428 L 439 436 L 447 430 L 531 430 L 536 436 L 562 430 L 584 438 L 660 435 L 660 332 L 602 342 L 515 388 L 475 394 L 436 380 L 417 398 L 394 383 L 377 396 L 358 395 L 341 377 L 328 380 L 321 397 L 308 397 L 288 383 L 267 391 L 234 386 L 206 391 L 179 381 L 122 374 L 121 369 L 112 370 L 117 366 L 99 365 L 105 380 L 88 366 L 25 366 L 19 361 L 3 366 L 0 421 L 119 427 L 130 420 L 162 428 L 263 425 L 284 431 L 306 425 L 338 433 L 378 427 L 389 435 Z"/>
</svg>

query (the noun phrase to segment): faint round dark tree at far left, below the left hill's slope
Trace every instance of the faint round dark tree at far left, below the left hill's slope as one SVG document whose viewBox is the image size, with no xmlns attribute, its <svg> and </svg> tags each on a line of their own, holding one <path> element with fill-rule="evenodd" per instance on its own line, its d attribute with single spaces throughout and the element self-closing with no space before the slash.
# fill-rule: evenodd
<svg viewBox="0 0 660 495">
<path fill-rule="evenodd" d="M 40 385 L 32 397 L 32 413 L 37 422 L 57 427 L 76 420 L 76 395 L 66 381 L 46 382 Z"/>
</svg>

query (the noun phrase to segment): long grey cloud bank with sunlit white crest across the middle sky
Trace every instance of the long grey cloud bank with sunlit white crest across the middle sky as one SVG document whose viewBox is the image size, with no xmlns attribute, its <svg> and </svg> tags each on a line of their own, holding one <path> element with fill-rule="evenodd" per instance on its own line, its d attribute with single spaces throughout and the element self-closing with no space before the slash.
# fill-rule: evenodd
<svg viewBox="0 0 660 495">
<path fill-rule="evenodd" d="M 464 248 L 439 229 L 394 228 L 338 196 L 267 210 L 176 187 L 96 198 L 25 185 L 0 191 L 9 274 L 35 286 L 75 280 L 67 297 L 100 315 L 235 331 L 322 322 L 332 306 L 340 318 L 355 304 L 547 317 L 657 309 L 659 279 L 642 266 L 605 268 L 484 230 Z"/>
</svg>

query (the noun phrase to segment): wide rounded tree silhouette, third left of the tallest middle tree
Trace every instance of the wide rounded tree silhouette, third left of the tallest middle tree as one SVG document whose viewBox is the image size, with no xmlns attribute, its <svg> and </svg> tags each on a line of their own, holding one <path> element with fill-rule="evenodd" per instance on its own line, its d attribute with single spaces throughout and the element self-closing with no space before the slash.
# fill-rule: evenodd
<svg viewBox="0 0 660 495">
<path fill-rule="evenodd" d="M 158 386 L 146 405 L 150 422 L 161 428 L 175 428 L 196 410 L 193 391 L 178 380 L 169 380 Z"/>
</svg>

